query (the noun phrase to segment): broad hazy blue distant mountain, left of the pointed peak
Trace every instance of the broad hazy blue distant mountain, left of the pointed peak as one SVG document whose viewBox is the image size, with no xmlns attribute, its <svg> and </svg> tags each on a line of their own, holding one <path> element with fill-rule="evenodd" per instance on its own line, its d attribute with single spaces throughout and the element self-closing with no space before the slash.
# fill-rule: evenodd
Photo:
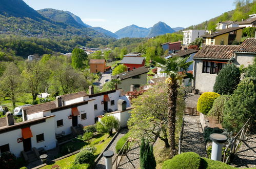
<svg viewBox="0 0 256 169">
<path fill-rule="evenodd" d="M 119 37 L 146 37 L 149 33 L 147 28 L 130 25 L 115 32 Z"/>
</svg>

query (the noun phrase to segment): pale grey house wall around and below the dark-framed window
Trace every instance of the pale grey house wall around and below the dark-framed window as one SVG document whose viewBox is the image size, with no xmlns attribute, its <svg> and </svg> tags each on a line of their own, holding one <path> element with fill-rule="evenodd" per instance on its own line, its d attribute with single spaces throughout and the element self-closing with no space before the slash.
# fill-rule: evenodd
<svg viewBox="0 0 256 169">
<path fill-rule="evenodd" d="M 202 73 L 203 61 L 194 59 L 194 87 L 200 92 L 212 92 L 216 74 Z"/>
</svg>

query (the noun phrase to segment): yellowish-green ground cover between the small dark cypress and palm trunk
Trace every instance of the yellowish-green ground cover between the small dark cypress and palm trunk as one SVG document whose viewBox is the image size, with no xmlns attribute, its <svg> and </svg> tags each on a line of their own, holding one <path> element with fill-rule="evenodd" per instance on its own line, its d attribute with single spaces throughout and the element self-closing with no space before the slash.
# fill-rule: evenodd
<svg viewBox="0 0 256 169">
<path fill-rule="evenodd" d="M 165 160 L 170 159 L 170 149 L 164 147 L 164 141 L 157 139 L 153 146 L 156 169 L 161 169 Z"/>
</svg>

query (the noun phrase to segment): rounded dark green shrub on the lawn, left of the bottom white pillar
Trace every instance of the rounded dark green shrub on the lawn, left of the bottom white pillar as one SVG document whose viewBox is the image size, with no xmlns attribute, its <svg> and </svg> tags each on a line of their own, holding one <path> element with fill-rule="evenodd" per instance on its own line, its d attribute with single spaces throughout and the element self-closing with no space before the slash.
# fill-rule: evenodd
<svg viewBox="0 0 256 169">
<path fill-rule="evenodd" d="M 90 151 L 82 151 L 80 153 L 77 154 L 77 156 L 75 157 L 74 160 L 74 164 L 90 164 L 90 166 L 92 167 L 94 165 L 94 155 L 92 152 Z"/>
</svg>

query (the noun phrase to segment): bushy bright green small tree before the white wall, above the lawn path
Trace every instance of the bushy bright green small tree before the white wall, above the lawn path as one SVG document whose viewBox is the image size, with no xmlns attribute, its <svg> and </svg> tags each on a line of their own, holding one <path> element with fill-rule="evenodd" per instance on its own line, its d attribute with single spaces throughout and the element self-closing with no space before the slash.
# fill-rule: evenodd
<svg viewBox="0 0 256 169">
<path fill-rule="evenodd" d="M 101 121 L 96 123 L 96 130 L 100 133 L 108 133 L 109 135 L 113 134 L 113 129 L 118 131 L 120 128 L 119 121 L 112 115 L 104 116 Z"/>
</svg>

